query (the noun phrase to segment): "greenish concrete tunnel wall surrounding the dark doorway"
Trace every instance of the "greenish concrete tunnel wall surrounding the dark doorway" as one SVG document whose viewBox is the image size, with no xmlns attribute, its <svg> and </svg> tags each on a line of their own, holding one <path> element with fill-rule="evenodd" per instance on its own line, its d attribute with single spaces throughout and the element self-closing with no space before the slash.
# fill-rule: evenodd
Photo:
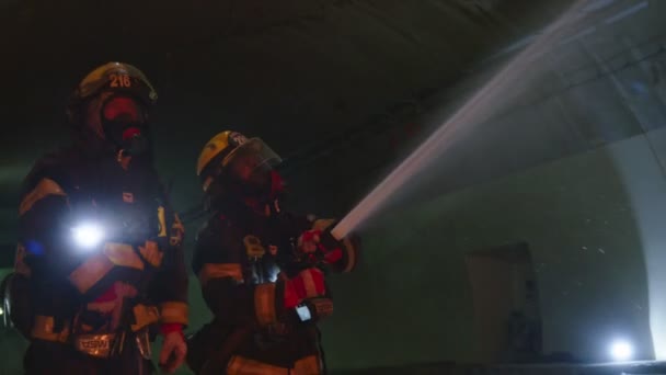
<svg viewBox="0 0 666 375">
<path fill-rule="evenodd" d="M 665 136 L 636 136 L 376 218 L 358 272 L 334 279 L 330 365 L 473 361 L 464 254 L 519 240 L 533 257 L 546 353 L 607 360 L 622 337 L 636 357 L 653 357 L 651 304 L 661 302 L 648 281 L 651 291 L 664 285 L 666 189 L 651 146 Z M 652 309 L 653 328 L 659 311 Z"/>
</svg>

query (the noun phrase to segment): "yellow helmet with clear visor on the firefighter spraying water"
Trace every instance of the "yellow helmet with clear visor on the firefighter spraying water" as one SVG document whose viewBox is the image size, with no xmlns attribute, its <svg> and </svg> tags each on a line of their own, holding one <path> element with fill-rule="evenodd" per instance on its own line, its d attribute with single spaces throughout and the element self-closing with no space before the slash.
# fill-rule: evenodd
<svg viewBox="0 0 666 375">
<path fill-rule="evenodd" d="M 280 157 L 262 139 L 227 130 L 206 143 L 197 160 L 196 174 L 207 192 L 219 178 L 251 180 L 256 171 L 272 169 L 280 162 Z"/>
</svg>

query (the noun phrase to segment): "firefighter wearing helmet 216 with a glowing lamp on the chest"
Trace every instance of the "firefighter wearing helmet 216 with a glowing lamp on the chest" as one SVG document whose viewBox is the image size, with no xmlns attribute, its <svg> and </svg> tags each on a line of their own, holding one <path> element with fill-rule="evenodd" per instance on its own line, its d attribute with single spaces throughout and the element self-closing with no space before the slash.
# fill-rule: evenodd
<svg viewBox="0 0 666 375">
<path fill-rule="evenodd" d="M 12 318 L 26 374 L 149 374 L 184 361 L 184 229 L 153 167 L 157 93 L 136 67 L 91 71 L 68 107 L 73 143 L 24 181 Z"/>
</svg>

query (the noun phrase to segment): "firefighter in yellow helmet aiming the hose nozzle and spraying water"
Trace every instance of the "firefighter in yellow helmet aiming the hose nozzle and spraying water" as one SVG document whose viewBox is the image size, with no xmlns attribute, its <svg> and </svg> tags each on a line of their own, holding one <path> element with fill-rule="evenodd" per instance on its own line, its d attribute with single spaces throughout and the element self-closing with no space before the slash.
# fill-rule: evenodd
<svg viewBox="0 0 666 375">
<path fill-rule="evenodd" d="M 324 272 L 349 272 L 355 237 L 333 220 L 284 211 L 280 158 L 260 138 L 223 132 L 197 163 L 211 214 L 193 259 L 213 321 L 190 341 L 197 374 L 322 374 L 317 322 L 333 303 Z"/>
</svg>

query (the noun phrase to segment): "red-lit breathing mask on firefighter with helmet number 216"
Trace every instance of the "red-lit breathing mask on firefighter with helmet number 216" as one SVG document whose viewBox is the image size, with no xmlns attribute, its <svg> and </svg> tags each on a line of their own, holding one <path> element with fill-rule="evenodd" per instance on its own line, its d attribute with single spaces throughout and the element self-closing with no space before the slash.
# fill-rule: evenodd
<svg viewBox="0 0 666 375">
<path fill-rule="evenodd" d="M 137 156 L 148 150 L 146 110 L 134 98 L 110 96 L 102 104 L 100 118 L 106 139 L 124 154 Z"/>
</svg>

